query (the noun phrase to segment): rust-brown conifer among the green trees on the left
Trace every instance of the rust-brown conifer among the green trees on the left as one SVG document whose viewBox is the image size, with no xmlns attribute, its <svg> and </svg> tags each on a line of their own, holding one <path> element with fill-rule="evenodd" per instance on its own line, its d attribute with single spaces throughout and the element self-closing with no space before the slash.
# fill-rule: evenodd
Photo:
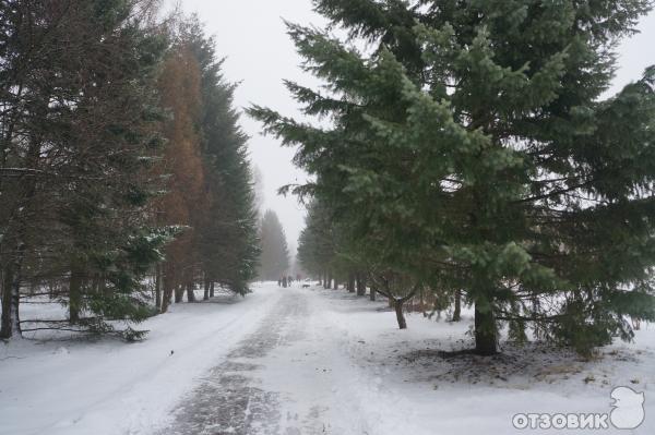
<svg viewBox="0 0 655 435">
<path fill-rule="evenodd" d="M 201 258 L 199 226 L 209 197 L 198 129 L 200 80 L 200 65 L 193 52 L 184 45 L 174 45 L 159 76 L 160 104 L 171 119 L 164 129 L 167 147 L 157 171 L 166 180 L 166 194 L 156 202 L 155 208 L 158 225 L 186 229 L 166 247 L 166 261 L 160 266 L 163 312 L 167 311 L 174 294 L 176 302 L 181 302 L 184 291 L 193 287 Z M 189 293 L 190 301 L 193 294 Z"/>
</svg>

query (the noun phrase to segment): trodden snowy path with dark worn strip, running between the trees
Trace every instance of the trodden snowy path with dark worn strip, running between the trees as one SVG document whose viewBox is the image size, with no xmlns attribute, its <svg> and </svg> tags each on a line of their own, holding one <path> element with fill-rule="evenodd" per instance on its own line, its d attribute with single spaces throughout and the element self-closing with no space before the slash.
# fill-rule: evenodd
<svg viewBox="0 0 655 435">
<path fill-rule="evenodd" d="M 335 352 L 338 335 L 322 317 L 322 301 L 309 291 L 281 291 L 259 328 L 180 404 L 163 435 L 349 433 L 354 422 L 343 410 L 338 420 L 347 427 L 332 428 L 342 400 L 356 410 L 354 396 L 344 396 L 354 377 Z"/>
</svg>

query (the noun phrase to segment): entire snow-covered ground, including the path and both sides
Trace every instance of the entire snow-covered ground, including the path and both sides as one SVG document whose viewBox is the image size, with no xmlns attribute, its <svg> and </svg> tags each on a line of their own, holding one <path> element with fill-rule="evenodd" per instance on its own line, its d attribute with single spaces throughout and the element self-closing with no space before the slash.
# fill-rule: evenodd
<svg viewBox="0 0 655 435">
<path fill-rule="evenodd" d="M 0 345 L 0 433 L 520 434 L 536 431 L 514 430 L 516 413 L 608 413 L 621 385 L 645 392 L 632 433 L 655 433 L 654 325 L 592 361 L 507 343 L 491 359 L 442 353 L 471 346 L 469 313 L 408 325 L 384 302 L 271 283 L 174 306 L 142 343 Z"/>
</svg>

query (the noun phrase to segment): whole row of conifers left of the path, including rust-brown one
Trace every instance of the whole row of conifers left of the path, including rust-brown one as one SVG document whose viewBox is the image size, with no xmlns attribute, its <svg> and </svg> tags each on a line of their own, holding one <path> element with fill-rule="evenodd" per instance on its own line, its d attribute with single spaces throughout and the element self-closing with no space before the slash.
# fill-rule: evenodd
<svg viewBox="0 0 655 435">
<path fill-rule="evenodd" d="M 0 2 L 3 338 L 139 338 L 120 321 L 199 285 L 249 291 L 258 217 L 235 86 L 198 19 L 159 16 L 152 0 Z M 39 294 L 68 318 L 21 319 Z"/>
</svg>

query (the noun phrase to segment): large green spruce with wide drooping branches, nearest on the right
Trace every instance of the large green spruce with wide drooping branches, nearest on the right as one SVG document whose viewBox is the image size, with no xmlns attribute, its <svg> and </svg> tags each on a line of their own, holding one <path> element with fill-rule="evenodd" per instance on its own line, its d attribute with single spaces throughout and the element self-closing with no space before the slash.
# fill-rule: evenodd
<svg viewBox="0 0 655 435">
<path fill-rule="evenodd" d="M 465 292 L 475 350 L 498 327 L 580 351 L 655 319 L 655 68 L 605 97 L 650 0 L 323 0 L 364 55 L 289 25 L 322 90 L 251 114 L 315 176 L 352 237 L 412 282 Z"/>
</svg>

